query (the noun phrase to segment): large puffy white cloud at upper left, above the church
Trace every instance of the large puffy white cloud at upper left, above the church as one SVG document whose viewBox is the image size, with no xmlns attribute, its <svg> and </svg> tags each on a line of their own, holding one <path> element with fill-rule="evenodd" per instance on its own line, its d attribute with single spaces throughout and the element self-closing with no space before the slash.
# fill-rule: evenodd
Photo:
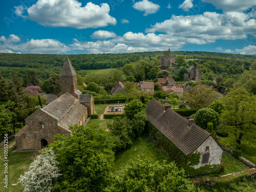
<svg viewBox="0 0 256 192">
<path fill-rule="evenodd" d="M 29 8 L 22 5 L 14 8 L 18 16 L 43 26 L 86 29 L 116 25 L 116 19 L 109 15 L 110 6 L 106 3 L 95 5 L 89 2 L 82 7 L 76 0 L 38 0 Z M 24 15 L 25 10 L 27 15 Z"/>
</svg>

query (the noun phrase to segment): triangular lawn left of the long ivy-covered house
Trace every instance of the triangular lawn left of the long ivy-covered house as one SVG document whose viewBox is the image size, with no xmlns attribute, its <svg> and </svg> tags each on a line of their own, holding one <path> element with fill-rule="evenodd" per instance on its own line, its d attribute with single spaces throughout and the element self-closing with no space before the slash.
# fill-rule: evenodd
<svg viewBox="0 0 256 192">
<path fill-rule="evenodd" d="M 142 154 L 144 154 L 144 156 L 142 156 Z M 118 170 L 129 164 L 131 159 L 135 160 L 137 156 L 141 158 L 147 157 L 152 161 L 167 160 L 170 162 L 170 159 L 158 148 L 150 136 L 144 133 L 134 140 L 131 147 L 116 154 L 114 170 L 118 172 Z"/>
</svg>

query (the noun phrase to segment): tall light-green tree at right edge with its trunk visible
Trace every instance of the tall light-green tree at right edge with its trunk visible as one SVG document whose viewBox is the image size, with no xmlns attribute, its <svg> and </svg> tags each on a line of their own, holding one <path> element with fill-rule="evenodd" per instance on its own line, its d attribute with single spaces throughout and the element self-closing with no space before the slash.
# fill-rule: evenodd
<svg viewBox="0 0 256 192">
<path fill-rule="evenodd" d="M 231 89 L 222 102 L 227 109 L 221 115 L 222 122 L 234 134 L 240 148 L 244 136 L 255 132 L 256 96 L 238 87 Z"/>
</svg>

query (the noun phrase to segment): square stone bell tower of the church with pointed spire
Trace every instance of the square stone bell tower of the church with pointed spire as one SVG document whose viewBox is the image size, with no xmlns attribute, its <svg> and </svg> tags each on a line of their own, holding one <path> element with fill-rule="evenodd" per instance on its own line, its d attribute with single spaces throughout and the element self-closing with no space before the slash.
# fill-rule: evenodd
<svg viewBox="0 0 256 192">
<path fill-rule="evenodd" d="M 59 78 L 60 93 L 58 94 L 58 97 L 67 92 L 73 94 L 77 90 L 76 72 L 71 65 L 68 55 L 62 67 Z"/>
</svg>

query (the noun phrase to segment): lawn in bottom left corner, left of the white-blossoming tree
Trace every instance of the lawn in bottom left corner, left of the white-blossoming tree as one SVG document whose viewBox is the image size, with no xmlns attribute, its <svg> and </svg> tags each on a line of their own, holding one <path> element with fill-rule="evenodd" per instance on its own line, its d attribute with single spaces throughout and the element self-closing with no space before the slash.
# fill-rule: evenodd
<svg viewBox="0 0 256 192">
<path fill-rule="evenodd" d="M 13 139 L 9 140 L 9 146 L 14 141 Z M 2 182 L 5 178 L 4 174 L 4 146 L 0 147 L 0 178 L 1 178 L 1 185 L 0 185 L 0 191 L 10 191 L 10 192 L 18 192 L 23 191 L 22 184 L 18 183 L 17 185 L 11 185 L 13 183 L 18 182 L 18 178 L 20 175 L 23 175 L 24 172 L 26 172 L 30 166 L 30 163 L 32 163 L 33 159 L 39 153 L 37 152 L 22 152 L 22 153 L 12 153 L 16 149 L 16 145 L 13 145 L 8 150 L 8 188 L 4 187 L 4 183 Z"/>
</svg>

